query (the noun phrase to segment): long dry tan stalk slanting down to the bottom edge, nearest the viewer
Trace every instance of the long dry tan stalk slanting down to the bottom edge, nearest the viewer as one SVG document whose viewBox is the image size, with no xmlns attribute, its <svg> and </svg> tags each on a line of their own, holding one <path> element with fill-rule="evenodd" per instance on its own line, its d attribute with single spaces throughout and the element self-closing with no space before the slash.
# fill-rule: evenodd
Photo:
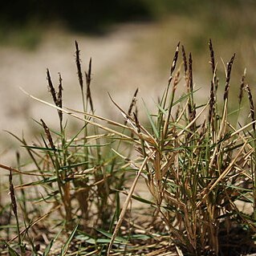
<svg viewBox="0 0 256 256">
<path fill-rule="evenodd" d="M 116 223 L 116 227 L 115 227 L 115 230 L 112 234 L 112 238 L 111 238 L 111 241 L 109 242 L 109 245 L 108 245 L 108 252 L 107 252 L 107 255 L 109 256 L 110 255 L 110 251 L 112 249 L 112 245 L 116 239 L 116 236 L 118 234 L 118 231 L 120 230 L 120 226 L 122 225 L 122 222 L 124 221 L 124 216 L 125 216 L 125 213 L 126 213 L 126 210 L 128 208 L 128 204 L 131 200 L 131 197 L 132 197 L 132 193 L 136 187 L 136 184 L 137 184 L 137 181 L 140 177 L 140 173 L 142 172 L 142 170 L 144 169 L 144 166 L 148 163 L 148 159 L 150 158 L 151 156 L 146 156 L 144 158 L 144 161 L 142 163 L 142 165 L 140 166 L 140 169 L 138 171 L 138 173 L 136 174 L 136 177 L 132 183 L 132 186 L 131 186 L 131 189 L 129 190 L 129 193 L 128 193 L 128 196 L 126 197 L 125 201 L 124 201 L 124 205 L 123 205 L 123 208 L 121 210 L 121 213 L 120 213 L 120 217 L 119 217 L 119 220 L 117 221 Z"/>
</svg>

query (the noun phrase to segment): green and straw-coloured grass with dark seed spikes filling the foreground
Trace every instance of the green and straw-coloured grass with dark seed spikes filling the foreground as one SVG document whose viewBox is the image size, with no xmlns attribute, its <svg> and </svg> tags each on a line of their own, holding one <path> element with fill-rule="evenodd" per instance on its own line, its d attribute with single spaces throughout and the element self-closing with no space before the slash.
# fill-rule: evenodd
<svg viewBox="0 0 256 256">
<path fill-rule="evenodd" d="M 110 96 L 124 116 L 124 124 L 120 124 L 95 115 L 91 59 L 83 83 L 75 42 L 83 111 L 63 107 L 61 76 L 56 92 L 47 70 L 54 104 L 31 97 L 58 111 L 59 131 L 41 120 L 43 135 L 37 144 L 28 145 L 25 139 L 16 136 L 29 153 L 31 163 L 23 165 L 18 158 L 16 169 L 1 165 L 10 172 L 10 195 L 16 217 L 15 223 L 8 217 L 10 205 L 2 205 L 2 214 L 7 216 L 6 229 L 1 230 L 3 251 L 11 255 L 255 252 L 253 96 L 243 75 L 234 122 L 228 102 L 235 55 L 225 67 L 223 100 L 219 100 L 221 82 L 211 41 L 209 52 L 212 79 L 204 104 L 196 104 L 192 55 L 187 55 L 179 43 L 156 113 L 145 107 L 147 122 L 138 116 L 137 90 L 128 112 Z M 181 83 L 185 84 L 185 91 L 177 95 Z M 241 114 L 243 91 L 247 91 L 249 99 L 249 120 Z M 63 114 L 82 123 L 69 138 Z M 12 173 L 20 177 L 20 185 L 13 185 Z M 141 180 L 151 195 L 149 199 L 135 193 Z M 131 201 L 144 204 L 136 217 L 129 207 Z M 250 212 L 242 209 L 242 205 L 249 205 Z M 16 237 L 14 227 L 18 230 Z"/>
</svg>

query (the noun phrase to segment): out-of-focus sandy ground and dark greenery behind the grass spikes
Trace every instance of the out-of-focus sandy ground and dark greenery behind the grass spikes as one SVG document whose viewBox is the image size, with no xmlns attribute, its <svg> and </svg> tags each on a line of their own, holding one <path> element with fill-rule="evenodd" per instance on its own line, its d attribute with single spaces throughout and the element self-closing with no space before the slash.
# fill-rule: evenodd
<svg viewBox="0 0 256 256">
<path fill-rule="evenodd" d="M 136 87 L 140 88 L 138 98 L 153 108 L 165 89 L 173 53 L 180 41 L 193 55 L 194 86 L 201 88 L 197 97 L 207 100 L 211 79 L 209 39 L 213 40 L 220 77 L 225 75 L 223 63 L 236 53 L 230 84 L 234 91 L 230 104 L 236 106 L 245 67 L 247 80 L 255 91 L 255 13 L 254 0 L 1 2 L 0 162 L 11 165 L 13 149 L 18 148 L 17 141 L 4 130 L 34 140 L 39 126 L 32 118 L 43 118 L 49 126 L 58 127 L 55 110 L 31 100 L 19 89 L 51 102 L 47 68 L 55 87 L 58 72 L 63 77 L 64 104 L 82 109 L 75 40 L 81 50 L 83 70 L 87 70 L 92 58 L 91 91 L 97 114 L 120 116 L 108 92 L 127 109 Z M 181 84 L 179 90 L 182 87 Z"/>
</svg>

